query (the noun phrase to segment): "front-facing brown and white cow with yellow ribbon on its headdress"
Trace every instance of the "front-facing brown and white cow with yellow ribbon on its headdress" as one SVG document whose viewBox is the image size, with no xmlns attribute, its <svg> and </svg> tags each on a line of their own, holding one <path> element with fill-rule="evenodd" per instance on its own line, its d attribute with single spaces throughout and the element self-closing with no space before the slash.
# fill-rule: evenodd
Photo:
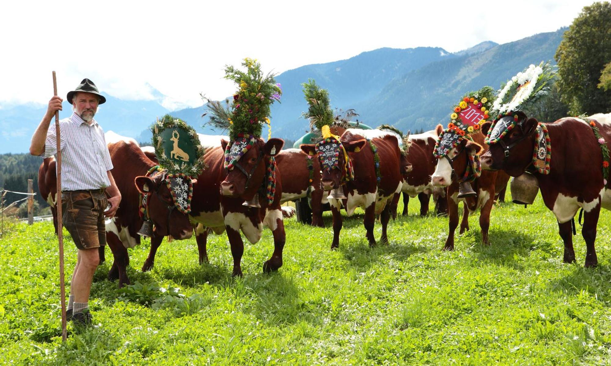
<svg viewBox="0 0 611 366">
<path fill-rule="evenodd" d="M 376 167 L 374 154 L 366 140 L 371 139 L 376 146 L 379 155 L 380 180 L 376 178 Z M 397 137 L 387 131 L 347 129 L 340 138 L 340 142 L 348 153 L 354 168 L 354 179 L 346 182 L 344 193 L 346 213 L 351 215 L 356 207 L 365 210 L 364 226 L 367 231 L 367 240 L 370 246 L 376 245 L 373 237 L 373 226 L 375 216 L 380 214 L 382 223 L 381 241 L 387 242 L 386 228 L 390 219 L 390 200 L 398 193 L 403 184 L 401 176 L 400 161 L 401 151 Z M 306 154 L 315 154 L 315 145 L 301 145 Z M 318 157 L 320 162 L 320 156 Z M 338 167 L 343 167 L 345 158 L 338 154 Z M 404 167 L 403 169 L 406 169 Z M 323 170 L 321 182 L 326 191 L 339 188 L 340 182 L 345 177 L 343 168 L 326 168 Z M 331 248 L 339 246 L 339 235 L 342 230 L 342 215 L 340 213 L 340 199 L 329 199 L 331 212 L 333 214 L 333 242 Z"/>
</svg>

